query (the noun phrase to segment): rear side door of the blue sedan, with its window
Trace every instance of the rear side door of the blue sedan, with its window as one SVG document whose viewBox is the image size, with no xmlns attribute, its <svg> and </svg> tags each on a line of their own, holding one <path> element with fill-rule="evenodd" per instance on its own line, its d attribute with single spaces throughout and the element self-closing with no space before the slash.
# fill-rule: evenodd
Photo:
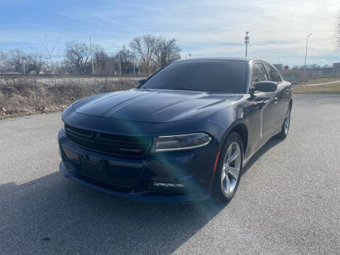
<svg viewBox="0 0 340 255">
<path fill-rule="evenodd" d="M 264 67 L 266 68 L 266 72 L 268 74 L 268 78 L 271 81 L 274 81 L 278 84 L 278 89 L 276 89 L 276 132 L 280 129 L 280 127 L 283 124 L 283 120 L 285 119 L 285 113 L 287 112 L 287 107 L 289 103 L 289 96 L 287 96 L 289 93 L 289 87 L 288 84 L 283 82 L 282 78 L 280 77 L 280 74 L 278 74 L 278 71 L 272 67 L 269 64 L 264 64 Z"/>
</svg>

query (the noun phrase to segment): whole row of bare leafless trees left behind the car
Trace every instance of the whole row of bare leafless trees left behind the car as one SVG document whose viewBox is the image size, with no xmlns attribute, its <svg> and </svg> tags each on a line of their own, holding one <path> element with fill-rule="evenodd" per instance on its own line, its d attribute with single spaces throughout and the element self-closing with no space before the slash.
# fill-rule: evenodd
<svg viewBox="0 0 340 255">
<path fill-rule="evenodd" d="M 140 35 L 130 45 L 118 47 L 115 55 L 100 45 L 69 41 L 64 45 L 64 57 L 52 57 L 54 47 L 37 52 L 0 51 L 0 74 L 152 74 L 175 60 L 181 59 L 176 39 L 155 35 Z"/>
</svg>

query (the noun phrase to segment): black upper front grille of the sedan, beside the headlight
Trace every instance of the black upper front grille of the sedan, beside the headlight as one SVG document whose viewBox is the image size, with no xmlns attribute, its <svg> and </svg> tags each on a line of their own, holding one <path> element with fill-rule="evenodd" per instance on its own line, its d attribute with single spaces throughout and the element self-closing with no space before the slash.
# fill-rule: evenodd
<svg viewBox="0 0 340 255">
<path fill-rule="evenodd" d="M 65 125 L 65 131 L 69 140 L 80 147 L 121 156 L 142 157 L 152 142 L 151 137 L 108 134 L 70 125 Z"/>
</svg>

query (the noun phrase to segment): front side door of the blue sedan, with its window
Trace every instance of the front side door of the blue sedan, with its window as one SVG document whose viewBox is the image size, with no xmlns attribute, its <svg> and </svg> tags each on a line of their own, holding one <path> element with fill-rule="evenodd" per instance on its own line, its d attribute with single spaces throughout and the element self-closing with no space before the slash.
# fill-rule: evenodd
<svg viewBox="0 0 340 255">
<path fill-rule="evenodd" d="M 254 89 L 256 82 L 268 81 L 268 75 L 262 62 L 254 62 L 251 67 L 251 86 Z M 260 140 L 258 145 L 260 147 L 276 130 L 276 92 L 254 91 L 254 101 L 261 108 Z"/>
</svg>

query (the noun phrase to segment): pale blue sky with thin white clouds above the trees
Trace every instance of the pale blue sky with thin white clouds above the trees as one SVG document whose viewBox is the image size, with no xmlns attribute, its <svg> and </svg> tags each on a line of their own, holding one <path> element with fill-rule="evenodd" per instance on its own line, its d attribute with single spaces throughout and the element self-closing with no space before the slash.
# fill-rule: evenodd
<svg viewBox="0 0 340 255">
<path fill-rule="evenodd" d="M 89 1 L 0 0 L 0 50 L 42 50 L 60 37 L 56 54 L 68 40 L 101 45 L 129 45 L 136 35 L 176 38 L 182 58 L 244 57 L 244 31 L 249 30 L 249 57 L 271 63 L 301 65 L 305 40 L 307 63 L 340 62 L 334 45 L 339 0 L 271 1 Z"/>
</svg>

